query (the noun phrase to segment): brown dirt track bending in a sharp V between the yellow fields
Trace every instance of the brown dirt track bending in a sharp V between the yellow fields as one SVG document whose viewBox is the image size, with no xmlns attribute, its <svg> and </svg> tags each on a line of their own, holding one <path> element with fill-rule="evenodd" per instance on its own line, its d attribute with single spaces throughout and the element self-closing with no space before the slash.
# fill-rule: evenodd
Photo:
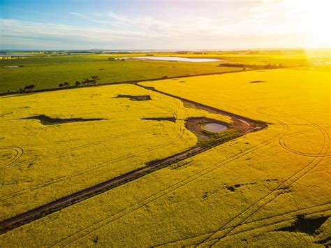
<svg viewBox="0 0 331 248">
<path fill-rule="evenodd" d="M 168 94 L 165 92 L 161 92 L 152 87 L 144 87 L 142 85 L 138 85 L 137 83 L 135 83 L 135 85 L 137 85 L 139 87 L 143 87 L 148 90 L 152 90 L 154 92 L 158 92 L 159 94 L 164 94 L 166 96 L 170 96 L 172 98 L 179 99 L 184 104 L 186 104 L 186 105 L 189 104 L 189 105 L 193 106 L 193 108 L 200 108 L 202 110 L 207 110 L 208 112 L 214 112 L 214 113 L 218 113 L 221 115 L 226 115 L 228 117 L 231 117 L 231 119 L 233 120 L 233 123 L 230 124 L 230 128 L 236 130 L 237 133 L 240 133 L 240 136 L 243 136 L 244 134 L 250 133 L 253 131 L 259 131 L 261 129 L 264 129 L 267 126 L 264 122 L 255 121 L 255 120 L 249 119 L 247 117 L 241 117 L 240 115 L 235 115 L 233 113 L 219 110 L 217 108 L 209 107 L 209 106 L 203 105 L 201 103 L 183 99 L 179 96 L 174 96 L 174 95 L 171 95 L 171 94 Z M 237 137 L 238 136 L 233 136 L 233 137 L 230 137 L 230 139 L 234 139 Z M 138 179 L 138 178 L 140 178 L 144 175 L 147 175 L 149 173 L 152 173 L 156 170 L 159 170 L 166 166 L 170 166 L 171 164 L 176 163 L 177 161 L 181 161 L 181 160 L 187 159 L 191 156 L 195 156 L 196 154 L 199 154 L 201 152 L 205 152 L 207 149 L 211 149 L 212 147 L 221 145 L 222 143 L 226 143 L 230 139 L 210 140 L 210 142 L 207 145 L 191 147 L 190 149 L 187 149 L 184 152 L 180 152 L 178 154 L 168 156 L 159 161 L 151 161 L 142 168 L 132 170 L 128 173 L 125 173 L 124 175 L 120 175 L 119 177 L 115 177 L 106 182 L 102 182 L 101 184 L 96 184 L 93 187 L 89 187 L 82 191 L 78 191 L 75 194 L 71 194 L 64 198 L 54 200 L 51 203 L 42 205 L 41 207 L 36 207 L 33 210 L 29 210 L 22 214 L 18 214 L 15 217 L 1 221 L 0 233 L 6 233 L 7 231 L 10 231 L 14 228 L 17 228 L 24 224 L 30 223 L 31 221 L 34 221 L 36 219 L 40 219 L 47 214 L 51 214 L 52 212 L 57 212 L 64 207 L 68 207 L 68 206 L 78 203 L 82 200 L 86 200 L 87 198 L 90 198 L 92 196 L 96 196 L 97 194 L 101 194 L 104 191 L 108 191 L 110 189 L 118 187 L 119 185 L 125 184 L 127 182 L 131 182 L 135 179 Z"/>
</svg>

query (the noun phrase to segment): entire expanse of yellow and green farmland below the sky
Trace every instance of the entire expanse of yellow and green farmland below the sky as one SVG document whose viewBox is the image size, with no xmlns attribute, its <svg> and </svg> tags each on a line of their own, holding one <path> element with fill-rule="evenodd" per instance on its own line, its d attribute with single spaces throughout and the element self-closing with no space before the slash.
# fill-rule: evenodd
<svg viewBox="0 0 331 248">
<path fill-rule="evenodd" d="M 330 245 L 330 68 L 240 53 L 0 61 L 4 92 L 133 81 L 0 97 L 1 247 Z"/>
</svg>

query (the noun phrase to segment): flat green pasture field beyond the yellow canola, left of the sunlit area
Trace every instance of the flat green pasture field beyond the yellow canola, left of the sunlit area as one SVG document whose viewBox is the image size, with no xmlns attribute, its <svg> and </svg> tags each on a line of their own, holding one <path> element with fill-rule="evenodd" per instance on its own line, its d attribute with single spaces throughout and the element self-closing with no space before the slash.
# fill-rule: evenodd
<svg viewBox="0 0 331 248">
<path fill-rule="evenodd" d="M 123 54 L 122 57 L 126 57 Z M 111 55 L 74 55 L 32 57 L 0 60 L 0 93 L 16 92 L 27 85 L 36 89 L 59 87 L 60 83 L 98 75 L 98 84 L 133 80 L 148 80 L 164 76 L 177 77 L 207 73 L 240 71 L 240 68 L 219 67 L 219 63 L 191 63 L 176 61 L 108 61 Z M 22 66 L 6 68 L 7 66 Z"/>
</svg>

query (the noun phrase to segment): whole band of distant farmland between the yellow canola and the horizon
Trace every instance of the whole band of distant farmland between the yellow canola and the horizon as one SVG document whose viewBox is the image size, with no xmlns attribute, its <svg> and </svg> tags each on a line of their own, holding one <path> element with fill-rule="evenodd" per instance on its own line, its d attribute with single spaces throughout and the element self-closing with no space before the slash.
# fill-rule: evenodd
<svg viewBox="0 0 331 248">
<path fill-rule="evenodd" d="M 58 88 L 68 82 L 71 87 L 85 78 L 98 75 L 98 84 L 126 82 L 135 80 L 172 78 L 186 75 L 203 75 L 241 71 L 240 67 L 219 66 L 219 64 L 244 64 L 247 69 L 252 65 L 265 66 L 307 66 L 324 63 L 325 58 L 311 60 L 301 50 L 258 51 L 258 52 L 207 52 L 186 54 L 159 52 L 154 54 L 33 54 L 23 59 L 0 60 L 0 93 L 17 92 L 27 85 L 36 85 L 36 89 Z M 61 56 L 60 56 L 61 55 Z M 154 55 L 175 57 L 205 57 L 224 61 L 192 63 L 182 61 L 147 61 L 135 59 L 118 59 L 121 57 L 141 57 Z M 115 59 L 115 60 L 113 60 Z M 13 67 L 19 66 L 19 67 Z M 321 66 L 320 66 L 321 67 Z M 254 67 L 253 67 L 254 68 Z"/>
</svg>

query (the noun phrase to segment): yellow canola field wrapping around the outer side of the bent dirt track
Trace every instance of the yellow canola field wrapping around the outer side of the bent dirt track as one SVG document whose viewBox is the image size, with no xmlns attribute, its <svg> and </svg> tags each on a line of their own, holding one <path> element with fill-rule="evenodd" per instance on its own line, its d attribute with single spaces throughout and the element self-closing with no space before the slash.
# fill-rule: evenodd
<svg viewBox="0 0 331 248">
<path fill-rule="evenodd" d="M 143 85 L 263 120 L 267 129 L 33 221 L 2 235 L 0 245 L 328 245 L 330 73 L 284 69 L 182 80 Z M 299 217 L 322 221 L 309 231 L 282 230 Z"/>
</svg>

